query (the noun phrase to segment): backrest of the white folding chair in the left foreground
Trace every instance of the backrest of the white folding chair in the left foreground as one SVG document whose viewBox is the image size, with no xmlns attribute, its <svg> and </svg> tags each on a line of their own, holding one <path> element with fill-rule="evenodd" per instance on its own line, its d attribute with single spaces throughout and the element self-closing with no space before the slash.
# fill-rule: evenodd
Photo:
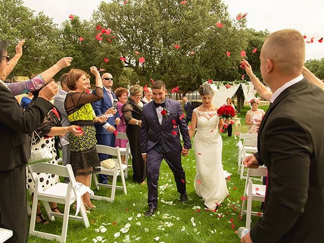
<svg viewBox="0 0 324 243">
<path fill-rule="evenodd" d="M 60 165 L 53 165 L 50 163 L 38 163 L 38 164 L 28 165 L 27 167 L 31 173 L 31 177 L 33 180 L 37 177 L 36 173 L 48 173 L 48 174 L 68 177 L 70 182 L 72 182 L 73 185 L 75 184 L 75 178 L 70 164 L 67 164 L 66 166 L 60 166 Z"/>
</svg>

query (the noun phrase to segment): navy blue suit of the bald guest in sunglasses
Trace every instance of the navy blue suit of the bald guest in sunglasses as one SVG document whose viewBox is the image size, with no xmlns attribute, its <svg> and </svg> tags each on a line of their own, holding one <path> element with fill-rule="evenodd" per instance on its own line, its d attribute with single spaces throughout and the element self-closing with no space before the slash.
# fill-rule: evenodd
<svg viewBox="0 0 324 243">
<path fill-rule="evenodd" d="M 116 99 L 114 93 L 112 93 L 112 96 L 114 99 Z M 100 116 L 104 114 L 106 110 L 112 107 L 112 103 L 113 100 L 110 99 L 108 92 L 105 88 L 103 88 L 103 98 L 101 100 L 91 103 L 91 105 L 96 113 L 96 116 Z M 115 146 L 116 136 L 113 133 L 110 133 L 106 129 L 104 129 L 103 125 L 105 125 L 108 122 L 111 126 L 115 126 L 115 118 L 117 117 L 119 117 L 118 112 L 113 117 L 109 117 L 105 123 L 95 125 L 97 144 L 106 145 L 110 147 Z M 107 154 L 98 153 L 98 155 L 100 161 L 109 158 Z M 107 177 L 99 174 L 99 182 L 107 183 Z"/>
</svg>

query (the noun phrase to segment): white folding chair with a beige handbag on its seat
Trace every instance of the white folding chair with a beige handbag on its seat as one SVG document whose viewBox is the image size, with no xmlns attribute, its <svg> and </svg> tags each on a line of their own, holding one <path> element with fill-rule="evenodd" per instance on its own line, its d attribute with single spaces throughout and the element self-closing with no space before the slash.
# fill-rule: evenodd
<svg viewBox="0 0 324 243">
<path fill-rule="evenodd" d="M 111 188 L 110 197 L 98 196 L 98 195 L 90 195 L 90 197 L 93 199 L 96 199 L 96 200 L 106 200 L 106 201 L 112 202 L 115 198 L 116 189 L 123 189 L 124 193 L 127 194 L 126 182 L 125 182 L 125 176 L 124 176 L 124 172 L 125 172 L 125 170 L 127 170 L 127 165 L 123 165 L 123 163 L 121 163 L 119 147 L 113 148 L 113 147 L 97 144 L 96 149 L 97 149 L 98 153 L 116 156 L 117 158 L 113 158 L 113 160 L 115 161 L 115 167 L 113 169 L 109 170 L 106 167 L 101 166 L 101 171 L 100 171 L 100 174 L 112 176 L 112 185 L 99 183 L 97 176 L 94 175 L 94 177 L 93 177 L 96 188 L 98 188 L 98 187 Z M 121 178 L 122 186 L 116 185 L 118 176 L 120 176 L 120 178 Z"/>
</svg>

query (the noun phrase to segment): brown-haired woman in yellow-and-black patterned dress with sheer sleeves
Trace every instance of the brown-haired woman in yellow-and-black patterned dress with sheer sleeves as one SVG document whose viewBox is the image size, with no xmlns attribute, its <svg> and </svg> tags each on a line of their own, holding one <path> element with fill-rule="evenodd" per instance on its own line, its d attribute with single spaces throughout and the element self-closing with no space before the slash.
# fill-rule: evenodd
<svg viewBox="0 0 324 243">
<path fill-rule="evenodd" d="M 89 75 L 80 69 L 71 69 L 66 77 L 66 85 L 70 93 L 66 95 L 64 107 L 71 125 L 81 127 L 84 135 L 76 137 L 69 134 L 70 164 L 75 174 L 75 180 L 90 186 L 90 175 L 100 172 L 100 160 L 96 151 L 96 129 L 94 127 L 94 113 L 91 102 L 103 98 L 102 80 L 96 67 L 90 71 L 96 77 L 96 89 L 92 94 L 86 90 L 89 88 Z M 85 207 L 94 209 L 89 193 L 83 196 Z"/>
</svg>

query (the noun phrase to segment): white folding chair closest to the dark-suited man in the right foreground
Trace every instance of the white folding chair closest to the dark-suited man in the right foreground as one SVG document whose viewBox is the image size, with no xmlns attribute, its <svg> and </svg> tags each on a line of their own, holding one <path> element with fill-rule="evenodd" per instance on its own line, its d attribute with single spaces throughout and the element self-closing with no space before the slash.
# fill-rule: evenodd
<svg viewBox="0 0 324 243">
<path fill-rule="evenodd" d="M 262 216 L 259 212 L 252 211 L 252 201 L 264 201 L 266 186 L 260 184 L 253 184 L 251 177 L 267 176 L 268 170 L 266 167 L 259 167 L 258 169 L 249 169 L 247 180 L 244 188 L 244 197 L 247 197 L 247 210 L 245 210 L 245 201 L 242 200 L 241 217 L 247 214 L 246 228 L 251 227 L 251 215 Z"/>
</svg>

